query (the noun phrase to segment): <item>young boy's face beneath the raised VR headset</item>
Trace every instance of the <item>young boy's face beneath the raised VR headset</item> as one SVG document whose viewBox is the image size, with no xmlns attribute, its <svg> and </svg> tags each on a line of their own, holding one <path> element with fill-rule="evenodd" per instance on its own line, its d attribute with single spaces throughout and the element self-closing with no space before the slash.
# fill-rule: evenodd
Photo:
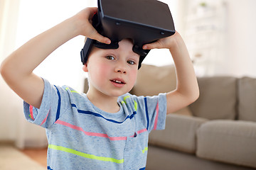
<svg viewBox="0 0 256 170">
<path fill-rule="evenodd" d="M 124 39 L 118 49 L 102 50 L 92 47 L 87 64 L 90 92 L 118 97 L 129 92 L 137 79 L 139 55 L 132 51 L 133 44 Z"/>
</svg>

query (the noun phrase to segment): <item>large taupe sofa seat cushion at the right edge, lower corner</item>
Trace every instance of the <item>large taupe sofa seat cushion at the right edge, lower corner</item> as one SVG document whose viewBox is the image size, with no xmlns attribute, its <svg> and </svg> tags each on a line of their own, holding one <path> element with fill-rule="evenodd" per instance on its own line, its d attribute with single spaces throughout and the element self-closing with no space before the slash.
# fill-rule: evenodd
<svg viewBox="0 0 256 170">
<path fill-rule="evenodd" d="M 220 162 L 256 168 L 256 123 L 211 120 L 197 132 L 196 155 Z"/>
</svg>

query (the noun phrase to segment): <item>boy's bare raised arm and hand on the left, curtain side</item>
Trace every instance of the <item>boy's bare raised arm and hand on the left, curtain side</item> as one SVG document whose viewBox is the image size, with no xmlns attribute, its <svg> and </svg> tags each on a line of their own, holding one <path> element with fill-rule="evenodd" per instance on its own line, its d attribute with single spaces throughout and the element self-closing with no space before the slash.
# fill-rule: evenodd
<svg viewBox="0 0 256 170">
<path fill-rule="evenodd" d="M 85 8 L 75 16 L 32 38 L 14 51 L 1 64 L 1 75 L 6 83 L 24 101 L 40 108 L 43 97 L 43 79 L 33 74 L 43 60 L 55 49 L 77 35 L 85 35 L 100 42 L 110 43 L 90 24 L 97 8 Z"/>
</svg>

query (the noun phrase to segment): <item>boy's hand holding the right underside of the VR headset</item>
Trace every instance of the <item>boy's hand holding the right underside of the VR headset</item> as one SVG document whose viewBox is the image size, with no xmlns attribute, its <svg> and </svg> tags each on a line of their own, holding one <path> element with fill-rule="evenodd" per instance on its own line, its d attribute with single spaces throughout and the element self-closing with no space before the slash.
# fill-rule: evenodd
<svg viewBox="0 0 256 170">
<path fill-rule="evenodd" d="M 156 42 L 152 42 L 150 44 L 143 45 L 143 49 L 151 50 L 154 48 L 168 48 L 171 50 L 171 48 L 177 44 L 176 40 L 178 38 L 181 38 L 181 35 L 179 35 L 179 33 L 176 31 L 176 33 L 174 33 L 174 35 L 171 35 L 166 38 L 161 38 L 161 39 L 157 40 Z"/>
</svg>

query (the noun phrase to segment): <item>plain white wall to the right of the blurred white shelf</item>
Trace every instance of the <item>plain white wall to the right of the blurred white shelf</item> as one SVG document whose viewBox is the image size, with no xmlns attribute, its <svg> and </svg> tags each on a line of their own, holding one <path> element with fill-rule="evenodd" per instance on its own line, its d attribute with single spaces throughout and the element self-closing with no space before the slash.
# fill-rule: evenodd
<svg viewBox="0 0 256 170">
<path fill-rule="evenodd" d="M 223 72 L 238 77 L 256 77 L 256 1 L 227 0 L 228 55 Z"/>
</svg>

